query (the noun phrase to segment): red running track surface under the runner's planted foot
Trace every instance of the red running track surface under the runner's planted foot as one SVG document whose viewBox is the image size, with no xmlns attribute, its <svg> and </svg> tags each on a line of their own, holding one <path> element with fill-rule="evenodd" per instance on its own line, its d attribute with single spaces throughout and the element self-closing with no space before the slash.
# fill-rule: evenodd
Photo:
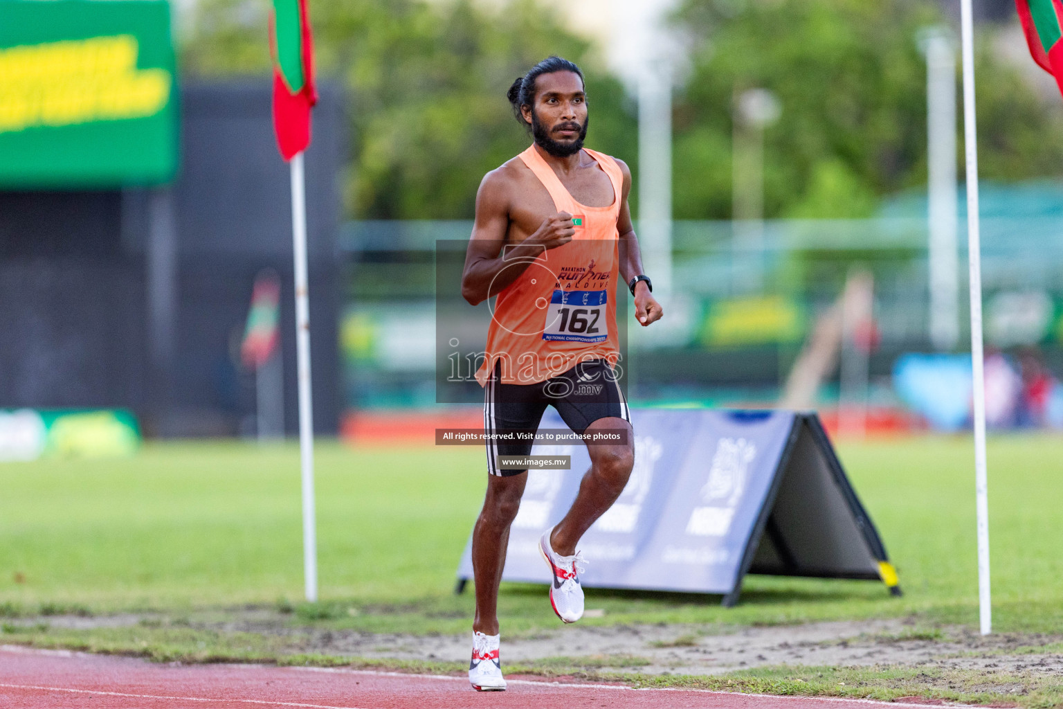
<svg viewBox="0 0 1063 709">
<path fill-rule="evenodd" d="M 696 690 L 510 679 L 474 692 L 463 677 L 257 664 L 153 664 L 145 660 L 0 646 L 0 707 L 19 709 L 871 709 L 921 706 Z M 922 705 L 925 709 L 925 705 Z"/>
</svg>

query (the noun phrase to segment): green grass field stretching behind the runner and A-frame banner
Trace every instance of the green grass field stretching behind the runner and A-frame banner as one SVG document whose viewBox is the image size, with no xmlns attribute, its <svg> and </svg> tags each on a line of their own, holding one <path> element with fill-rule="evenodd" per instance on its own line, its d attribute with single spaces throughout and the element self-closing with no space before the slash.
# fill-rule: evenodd
<svg viewBox="0 0 1063 709">
<path fill-rule="evenodd" d="M 752 576 L 742 602 L 588 591 L 589 623 L 786 623 L 915 615 L 977 624 L 973 452 L 968 438 L 840 445 L 900 573 L 876 583 Z M 1063 621 L 1063 439 L 990 442 L 995 628 Z M 470 593 L 454 572 L 483 499 L 477 448 L 317 449 L 321 603 L 300 606 L 298 449 L 152 443 L 117 460 L 0 466 L 0 604 L 9 615 L 64 609 L 190 610 L 296 605 L 339 627 L 463 631 Z M 540 587 L 504 585 L 506 631 L 556 622 Z"/>
</svg>

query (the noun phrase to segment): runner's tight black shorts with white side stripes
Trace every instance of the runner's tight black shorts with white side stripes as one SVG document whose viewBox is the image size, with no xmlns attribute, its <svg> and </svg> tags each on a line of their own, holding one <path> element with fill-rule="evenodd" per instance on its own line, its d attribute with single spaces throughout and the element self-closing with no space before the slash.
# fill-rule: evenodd
<svg viewBox="0 0 1063 709">
<path fill-rule="evenodd" d="M 561 420 L 577 434 L 598 419 L 617 418 L 628 423 L 627 401 L 605 359 L 580 362 L 557 376 L 537 384 L 502 384 L 499 367 L 484 387 L 484 431 L 536 432 L 546 406 L 553 406 Z M 487 472 L 491 475 L 518 475 L 522 470 L 500 470 L 500 455 L 528 455 L 532 442 L 499 442 L 487 439 Z"/>
</svg>

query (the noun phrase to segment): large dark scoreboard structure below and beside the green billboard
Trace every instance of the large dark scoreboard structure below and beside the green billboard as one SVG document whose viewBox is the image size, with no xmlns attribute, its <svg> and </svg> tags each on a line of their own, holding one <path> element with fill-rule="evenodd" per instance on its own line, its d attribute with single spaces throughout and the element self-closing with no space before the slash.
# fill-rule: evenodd
<svg viewBox="0 0 1063 709">
<path fill-rule="evenodd" d="M 253 431 L 239 338 L 255 275 L 281 275 L 285 427 L 298 429 L 288 166 L 268 79 L 191 83 L 172 184 L 0 191 L 0 408 L 126 408 L 148 435 Z M 338 427 L 341 96 L 306 154 L 314 423 Z"/>
</svg>

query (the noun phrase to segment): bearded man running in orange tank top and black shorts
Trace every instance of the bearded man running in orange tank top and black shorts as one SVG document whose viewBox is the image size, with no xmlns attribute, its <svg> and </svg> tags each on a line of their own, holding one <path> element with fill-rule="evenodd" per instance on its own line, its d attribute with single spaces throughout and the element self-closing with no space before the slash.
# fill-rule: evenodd
<svg viewBox="0 0 1063 709">
<path fill-rule="evenodd" d="M 476 374 L 486 390 L 485 432 L 536 431 L 547 405 L 577 434 L 623 432 L 618 444 L 588 445 L 591 469 L 572 508 L 539 542 L 554 575 L 551 605 L 573 623 L 584 612 L 576 544 L 615 502 L 635 462 L 627 403 L 613 369 L 620 355 L 618 274 L 643 326 L 662 311 L 631 227 L 631 173 L 624 163 L 583 147 L 587 94 L 579 68 L 551 56 L 513 82 L 507 96 L 534 144 L 480 183 L 461 281 L 473 305 L 497 297 L 487 357 Z M 527 482 L 527 470 L 500 469 L 497 456 L 530 451 L 532 443 L 487 443 L 487 496 L 472 540 L 476 618 L 469 680 L 477 690 L 506 688 L 496 603 L 509 526 Z"/>
</svg>

